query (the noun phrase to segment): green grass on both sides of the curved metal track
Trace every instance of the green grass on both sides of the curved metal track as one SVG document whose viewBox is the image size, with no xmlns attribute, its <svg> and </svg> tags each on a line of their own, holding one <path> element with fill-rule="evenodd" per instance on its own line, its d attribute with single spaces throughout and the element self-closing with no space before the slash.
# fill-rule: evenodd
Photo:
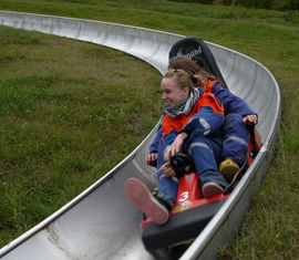
<svg viewBox="0 0 299 260">
<path fill-rule="evenodd" d="M 130 0 L 6 0 L 0 1 L 0 9 L 94 19 L 197 35 L 245 53 L 266 65 L 277 79 L 282 95 L 277 150 L 237 239 L 220 248 L 219 257 L 299 258 L 298 13 Z M 9 38 L 9 41 L 4 40 Z M 6 41 L 9 43 L 3 44 Z M 115 51 L 60 38 L 44 38 L 39 33 L 1 28 L 0 44 L 0 116 L 4 122 L 0 126 L 0 153 L 3 154 L 1 195 L 7 197 L 0 210 L 2 216 L 1 216 L 1 219 L 7 219 L 4 223 L 1 220 L 1 240 L 4 243 L 59 208 L 59 204 L 63 205 L 83 190 L 136 146 L 158 115 L 158 108 L 154 107 L 159 94 L 143 92 L 157 85 L 159 75 L 143 62 Z M 18 48 L 16 44 L 19 44 Z M 52 50 L 58 55 L 48 53 Z M 42 67 L 45 58 L 48 65 Z M 114 62 L 115 59 L 117 62 Z M 84 67 L 86 63 L 81 63 L 82 60 L 89 61 L 90 66 Z M 107 67 L 102 69 L 101 64 Z M 135 69 L 128 73 L 127 67 L 132 64 L 135 64 Z M 143 76 L 136 79 L 136 70 L 142 70 Z M 111 73 L 110 76 L 105 77 L 106 73 Z M 138 81 L 143 83 L 138 84 Z M 130 104 L 132 100 L 127 93 L 131 87 L 141 86 L 147 89 L 133 89 L 132 95 L 137 96 L 134 96 L 134 105 Z M 115 103 L 101 106 L 104 102 L 101 100 L 102 93 L 111 89 Z M 127 100 L 121 97 L 120 90 L 124 90 Z M 85 100 L 86 96 L 90 98 Z M 140 98 L 144 100 L 141 102 Z M 106 131 L 102 134 L 101 124 L 106 125 L 111 121 L 112 125 L 123 124 L 126 116 L 122 116 L 122 113 L 140 118 L 140 110 L 145 108 L 144 101 L 150 102 L 146 105 L 150 117 L 145 121 L 145 116 L 140 116 L 144 122 L 135 126 L 143 127 L 143 135 L 128 139 L 132 133 L 140 133 L 130 127 L 124 127 L 126 133 L 118 132 L 125 129 L 116 127 L 117 133 Z M 120 117 L 114 118 L 115 110 Z M 127 125 L 131 125 L 130 118 Z M 107 127 L 113 128 L 109 124 Z M 42 135 L 44 132 L 49 134 Z M 105 136 L 105 141 L 96 138 L 99 136 Z M 127 142 L 121 141 L 121 136 L 125 136 Z M 84 145 L 81 144 L 82 139 Z M 114 139 L 117 146 L 103 148 Z M 22 153 L 23 147 L 27 147 L 27 153 Z M 80 184 L 74 187 L 76 183 Z M 12 188 L 14 186 L 17 188 Z M 54 188 L 49 189 L 51 186 Z M 32 195 L 32 190 L 35 190 L 35 195 Z M 55 193 L 53 199 L 49 197 L 51 193 Z M 30 212 L 30 217 L 34 218 L 30 223 L 24 221 L 24 212 Z"/>
</svg>

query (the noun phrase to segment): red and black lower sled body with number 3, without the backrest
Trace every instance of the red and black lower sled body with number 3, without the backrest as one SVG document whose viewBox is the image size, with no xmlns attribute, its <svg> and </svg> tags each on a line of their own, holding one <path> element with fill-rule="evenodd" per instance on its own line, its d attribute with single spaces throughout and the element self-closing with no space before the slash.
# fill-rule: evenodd
<svg viewBox="0 0 299 260">
<path fill-rule="evenodd" d="M 261 147 L 258 132 L 252 128 L 249 135 L 247 162 L 224 193 L 214 197 L 203 198 L 197 174 L 193 170 L 184 173 L 190 167 L 185 155 L 177 154 L 172 158 L 176 162 L 173 167 L 181 168 L 182 177 L 175 207 L 169 211 L 169 219 L 165 225 L 158 226 L 151 218 L 145 217 L 141 223 L 143 243 L 152 256 L 156 259 L 176 258 L 175 256 L 186 249 L 220 209 Z"/>
</svg>

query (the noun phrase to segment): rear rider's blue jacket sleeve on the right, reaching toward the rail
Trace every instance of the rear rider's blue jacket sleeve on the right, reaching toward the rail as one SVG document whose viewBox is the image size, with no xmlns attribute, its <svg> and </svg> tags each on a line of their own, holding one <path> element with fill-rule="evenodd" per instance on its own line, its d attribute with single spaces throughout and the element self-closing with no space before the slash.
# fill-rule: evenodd
<svg viewBox="0 0 299 260">
<path fill-rule="evenodd" d="M 212 93 L 224 105 L 226 115 L 231 113 L 239 114 L 243 117 L 257 115 L 244 100 L 234 95 L 228 89 L 223 87 L 220 82 L 215 82 L 212 86 Z"/>
</svg>

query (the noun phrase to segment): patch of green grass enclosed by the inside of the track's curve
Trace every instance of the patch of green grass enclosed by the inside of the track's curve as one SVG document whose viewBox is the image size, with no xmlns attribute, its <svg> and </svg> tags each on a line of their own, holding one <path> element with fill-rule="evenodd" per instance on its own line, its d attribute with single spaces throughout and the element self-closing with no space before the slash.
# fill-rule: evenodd
<svg viewBox="0 0 299 260">
<path fill-rule="evenodd" d="M 0 27 L 1 246 L 131 153 L 159 116 L 159 73 L 95 44 Z"/>
</svg>

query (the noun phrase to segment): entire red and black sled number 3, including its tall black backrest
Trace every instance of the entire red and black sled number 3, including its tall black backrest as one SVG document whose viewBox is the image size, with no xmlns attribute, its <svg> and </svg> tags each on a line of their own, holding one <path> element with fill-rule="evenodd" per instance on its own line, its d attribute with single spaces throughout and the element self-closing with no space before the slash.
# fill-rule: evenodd
<svg viewBox="0 0 299 260">
<path fill-rule="evenodd" d="M 194 37 L 179 40 L 171 49 L 169 59 L 178 55 L 190 58 L 227 87 L 210 50 L 203 40 Z M 141 223 L 142 240 L 152 256 L 157 259 L 177 258 L 220 209 L 261 147 L 260 136 L 255 127 L 250 126 L 248 131 L 249 147 L 246 163 L 224 193 L 214 197 L 202 196 L 199 179 L 192 169 L 192 162 L 187 155 L 177 154 L 171 159 L 181 178 L 176 204 L 169 211 L 169 219 L 165 225 L 158 226 L 145 216 Z"/>
</svg>

